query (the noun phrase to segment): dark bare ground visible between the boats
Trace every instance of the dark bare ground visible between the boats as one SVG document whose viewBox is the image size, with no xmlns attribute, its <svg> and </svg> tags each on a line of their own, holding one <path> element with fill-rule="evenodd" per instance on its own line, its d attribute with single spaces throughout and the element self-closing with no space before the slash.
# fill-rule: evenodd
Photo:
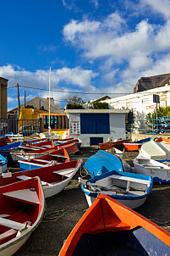
<svg viewBox="0 0 170 256">
<path fill-rule="evenodd" d="M 83 159 L 84 164 L 90 155 L 96 153 L 98 147 L 81 147 L 74 159 Z M 123 159 L 133 167 L 133 159 L 138 153 L 125 152 Z M 19 256 L 54 256 L 60 252 L 63 242 L 69 236 L 74 225 L 88 209 L 84 192 L 81 191 L 77 178 L 78 172 L 70 184 L 56 197 L 47 199 L 46 210 L 41 224 L 32 233 L 25 246 L 17 254 Z M 145 204 L 138 213 L 152 220 L 170 232 L 170 184 L 153 186 Z M 49 217 L 50 220 L 47 220 Z"/>
</svg>

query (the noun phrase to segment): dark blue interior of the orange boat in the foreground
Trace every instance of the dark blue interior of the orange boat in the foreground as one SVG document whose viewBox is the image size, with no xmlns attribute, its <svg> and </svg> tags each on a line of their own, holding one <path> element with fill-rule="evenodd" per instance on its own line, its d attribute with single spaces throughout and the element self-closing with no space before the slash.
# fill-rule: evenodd
<svg viewBox="0 0 170 256">
<path fill-rule="evenodd" d="M 170 248 L 143 227 L 130 231 L 85 233 L 72 256 L 146 256 L 169 255 Z"/>
</svg>

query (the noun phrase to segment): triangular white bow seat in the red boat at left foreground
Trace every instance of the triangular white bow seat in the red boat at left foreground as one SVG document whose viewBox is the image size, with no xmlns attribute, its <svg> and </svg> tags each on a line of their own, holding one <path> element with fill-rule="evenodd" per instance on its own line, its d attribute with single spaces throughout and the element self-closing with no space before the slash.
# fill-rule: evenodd
<svg viewBox="0 0 170 256">
<path fill-rule="evenodd" d="M 32 189 L 21 189 L 13 192 L 3 193 L 4 198 L 13 199 L 22 203 L 29 203 L 32 205 L 39 205 L 40 201 L 36 190 Z"/>
</svg>

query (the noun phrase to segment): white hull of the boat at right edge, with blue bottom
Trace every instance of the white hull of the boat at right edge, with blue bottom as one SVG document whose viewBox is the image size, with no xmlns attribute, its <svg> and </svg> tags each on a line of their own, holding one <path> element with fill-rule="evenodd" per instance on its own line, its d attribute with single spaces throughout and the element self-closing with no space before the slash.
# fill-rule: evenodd
<svg viewBox="0 0 170 256">
<path fill-rule="evenodd" d="M 134 170 L 137 174 L 151 176 L 155 182 L 170 183 L 170 169 L 157 169 L 154 166 L 150 168 L 134 163 Z"/>
</svg>

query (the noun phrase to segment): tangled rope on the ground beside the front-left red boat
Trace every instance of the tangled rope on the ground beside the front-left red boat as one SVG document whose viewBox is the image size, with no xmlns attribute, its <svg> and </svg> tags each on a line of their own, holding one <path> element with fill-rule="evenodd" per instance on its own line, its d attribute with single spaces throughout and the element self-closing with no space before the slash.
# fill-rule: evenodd
<svg viewBox="0 0 170 256">
<path fill-rule="evenodd" d="M 55 209 L 55 208 L 48 208 L 45 209 L 45 213 L 43 215 L 43 219 L 41 222 L 52 222 L 56 221 L 63 216 L 67 216 L 69 213 L 65 212 L 64 209 Z"/>
</svg>

